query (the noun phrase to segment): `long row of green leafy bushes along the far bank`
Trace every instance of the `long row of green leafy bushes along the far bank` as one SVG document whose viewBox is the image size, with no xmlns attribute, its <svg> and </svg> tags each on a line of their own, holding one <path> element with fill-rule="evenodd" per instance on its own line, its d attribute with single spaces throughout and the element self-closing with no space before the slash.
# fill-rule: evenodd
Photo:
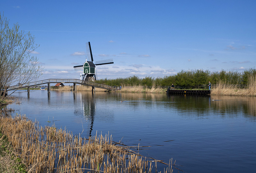
<svg viewBox="0 0 256 173">
<path fill-rule="evenodd" d="M 220 81 L 228 84 L 247 84 L 250 75 L 256 75 L 256 69 L 250 68 L 244 70 L 243 73 L 234 70 L 221 70 L 219 72 L 210 72 L 209 70 L 181 70 L 176 75 L 164 76 L 154 78 L 152 76 L 146 76 L 145 78 L 139 78 L 138 76 L 130 76 L 126 78 L 116 79 L 100 79 L 97 83 L 112 85 L 112 86 L 198 86 L 208 85 L 210 81 L 212 85 L 219 83 Z"/>
</svg>

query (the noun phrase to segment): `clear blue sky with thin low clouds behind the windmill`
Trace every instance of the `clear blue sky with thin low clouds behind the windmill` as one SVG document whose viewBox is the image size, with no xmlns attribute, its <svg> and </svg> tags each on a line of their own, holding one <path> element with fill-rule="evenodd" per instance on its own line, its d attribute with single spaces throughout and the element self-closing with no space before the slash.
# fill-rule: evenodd
<svg viewBox="0 0 256 173">
<path fill-rule="evenodd" d="M 99 78 L 256 67 L 256 1 L 1 0 L 12 26 L 35 36 L 41 79 L 80 79 L 90 41 Z"/>
</svg>

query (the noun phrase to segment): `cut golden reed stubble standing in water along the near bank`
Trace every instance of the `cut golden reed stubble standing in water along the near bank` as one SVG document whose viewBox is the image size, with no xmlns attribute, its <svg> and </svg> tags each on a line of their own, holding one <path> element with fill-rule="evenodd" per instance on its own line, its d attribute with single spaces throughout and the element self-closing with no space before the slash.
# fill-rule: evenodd
<svg viewBox="0 0 256 173">
<path fill-rule="evenodd" d="M 0 117 L 0 125 L 1 132 L 20 152 L 28 172 L 146 173 L 157 170 L 156 162 L 164 163 L 139 155 L 134 151 L 139 146 L 113 142 L 107 134 L 82 139 L 80 134 L 74 136 L 54 125 L 39 126 L 38 122 L 18 114 Z M 172 172 L 172 162 L 164 164 L 167 165 L 164 172 Z"/>
</svg>

